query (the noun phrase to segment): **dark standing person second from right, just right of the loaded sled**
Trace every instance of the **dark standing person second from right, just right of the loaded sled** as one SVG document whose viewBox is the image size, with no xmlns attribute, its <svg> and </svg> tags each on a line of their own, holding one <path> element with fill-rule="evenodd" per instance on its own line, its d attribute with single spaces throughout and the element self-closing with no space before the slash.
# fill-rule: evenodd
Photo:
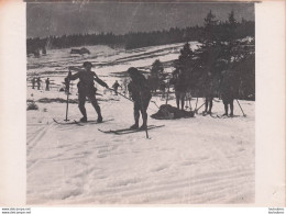
<svg viewBox="0 0 286 214">
<path fill-rule="evenodd" d="M 212 100 L 213 100 L 213 79 L 210 71 L 207 72 L 205 79 L 205 111 L 204 114 L 211 114 Z"/>
</svg>

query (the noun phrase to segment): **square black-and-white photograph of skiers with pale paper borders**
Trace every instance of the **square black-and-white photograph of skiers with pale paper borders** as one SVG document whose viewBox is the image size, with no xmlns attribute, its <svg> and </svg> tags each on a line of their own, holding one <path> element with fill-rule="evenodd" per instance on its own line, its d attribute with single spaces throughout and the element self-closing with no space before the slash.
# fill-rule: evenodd
<svg viewBox="0 0 286 214">
<path fill-rule="evenodd" d="M 26 204 L 255 203 L 254 2 L 28 2 Z"/>
</svg>

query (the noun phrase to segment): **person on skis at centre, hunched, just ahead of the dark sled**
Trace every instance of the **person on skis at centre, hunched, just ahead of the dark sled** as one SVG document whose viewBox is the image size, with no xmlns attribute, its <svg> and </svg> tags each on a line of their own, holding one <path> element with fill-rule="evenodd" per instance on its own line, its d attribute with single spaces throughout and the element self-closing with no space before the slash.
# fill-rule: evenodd
<svg viewBox="0 0 286 214">
<path fill-rule="evenodd" d="M 140 129 L 145 129 L 147 127 L 147 106 L 152 98 L 150 86 L 145 77 L 136 68 L 129 68 L 128 74 L 131 78 L 131 82 L 128 85 L 128 89 L 131 93 L 132 100 L 134 101 L 133 110 L 135 120 L 135 124 L 130 128 L 139 128 L 139 117 L 141 111 L 143 124 Z"/>
</svg>

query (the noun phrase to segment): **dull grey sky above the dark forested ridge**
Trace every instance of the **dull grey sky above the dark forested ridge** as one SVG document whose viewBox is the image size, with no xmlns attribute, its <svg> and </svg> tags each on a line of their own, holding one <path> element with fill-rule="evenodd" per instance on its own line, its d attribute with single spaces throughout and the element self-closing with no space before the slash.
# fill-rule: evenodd
<svg viewBox="0 0 286 214">
<path fill-rule="evenodd" d="M 147 32 L 202 25 L 209 10 L 224 21 L 254 20 L 253 3 L 28 3 L 28 37 L 77 33 Z"/>
</svg>

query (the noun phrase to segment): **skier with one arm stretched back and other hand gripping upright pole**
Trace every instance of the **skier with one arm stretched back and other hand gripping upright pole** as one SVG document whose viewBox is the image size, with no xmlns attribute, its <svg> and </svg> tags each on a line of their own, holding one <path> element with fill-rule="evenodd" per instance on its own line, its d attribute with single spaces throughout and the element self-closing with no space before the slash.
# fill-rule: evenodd
<svg viewBox="0 0 286 214">
<path fill-rule="evenodd" d="M 91 71 L 91 67 L 92 67 L 91 63 L 85 61 L 82 67 L 84 67 L 84 69 L 74 67 L 74 66 L 68 67 L 69 74 L 67 77 L 68 81 L 79 79 L 77 88 L 78 88 L 78 108 L 82 114 L 80 122 L 87 122 L 87 112 L 86 112 L 85 103 L 86 103 L 86 98 L 88 98 L 98 114 L 97 122 L 101 123 L 102 115 L 101 115 L 100 106 L 96 99 L 97 89 L 95 88 L 94 80 L 96 80 L 102 87 L 106 87 L 106 88 L 109 88 L 109 87 L 106 82 L 103 82 L 101 79 L 98 78 L 96 72 Z M 78 72 L 76 72 L 75 75 L 72 75 L 70 70 L 75 70 Z"/>
</svg>

